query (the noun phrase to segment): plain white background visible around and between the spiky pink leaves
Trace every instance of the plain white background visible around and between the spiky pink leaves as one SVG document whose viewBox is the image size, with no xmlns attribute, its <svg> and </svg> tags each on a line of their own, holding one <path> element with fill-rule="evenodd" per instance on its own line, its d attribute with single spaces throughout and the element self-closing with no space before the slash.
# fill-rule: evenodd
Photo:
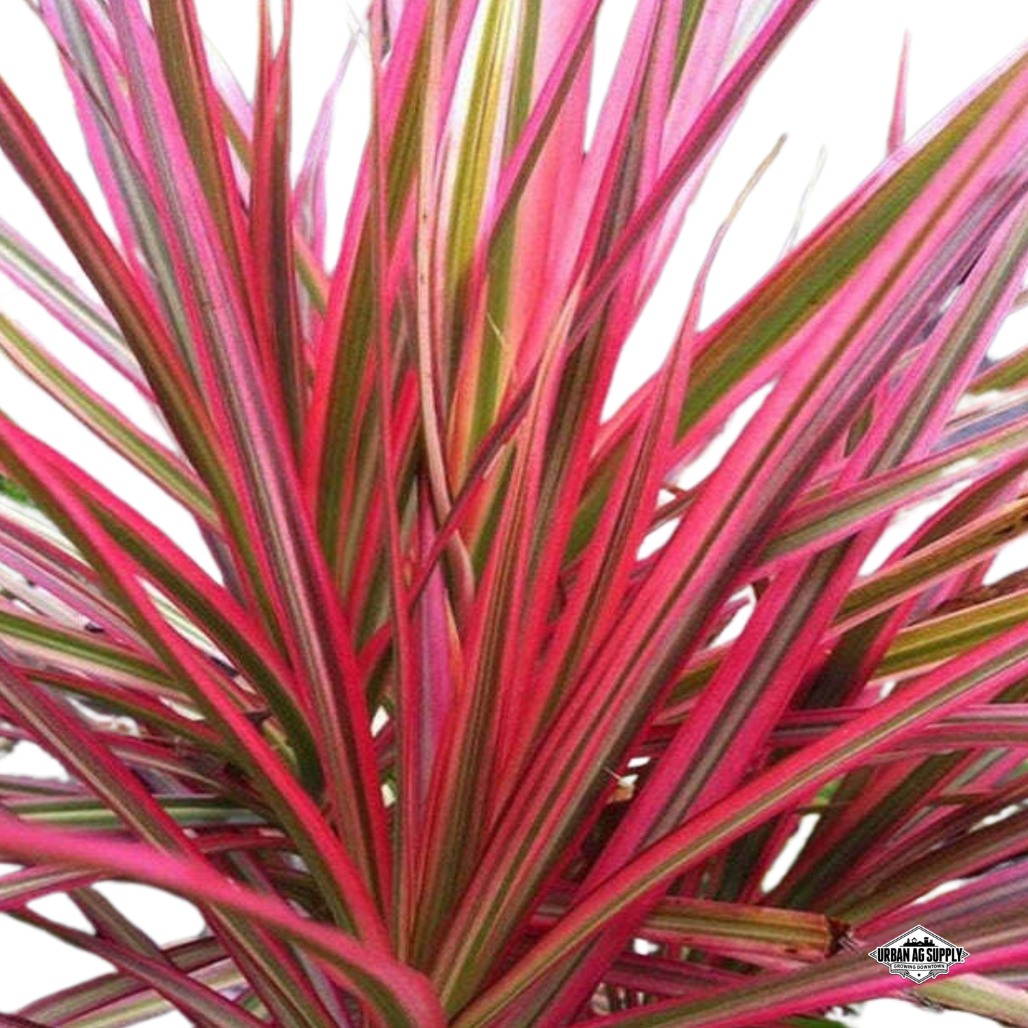
<svg viewBox="0 0 1028 1028">
<path fill-rule="evenodd" d="M 215 4 L 208 0 L 203 6 L 213 35 L 241 73 L 249 78 L 250 38 L 247 15 L 242 13 L 249 11 L 249 5 Z M 217 11 L 226 8 L 232 14 L 223 25 L 225 15 Z M 26 102 L 39 115 L 83 188 L 91 192 L 88 171 L 46 46 L 19 3 L 6 0 L 0 9 L 4 13 L 0 67 L 10 75 Z M 866 0 L 859 4 L 825 0 L 768 77 L 729 144 L 657 301 L 629 352 L 620 388 L 630 386 L 652 365 L 659 342 L 666 339 L 677 317 L 685 288 L 717 220 L 775 132 L 792 130 L 793 141 L 747 208 L 740 227 L 729 240 L 711 284 L 708 316 L 726 306 L 773 259 L 819 140 L 828 139 L 834 149 L 828 175 L 814 201 L 811 221 L 874 166 L 881 146 L 896 38 L 904 23 L 912 22 L 917 29 L 912 102 L 912 122 L 917 124 L 1018 40 L 1024 27 L 1008 24 L 1002 16 L 1008 9 L 1005 3 L 981 2 L 967 11 L 975 16 L 961 15 L 955 21 L 945 11 L 945 5 L 922 0 Z M 297 123 L 305 130 L 321 85 L 340 48 L 342 31 L 334 3 L 305 4 L 302 10 L 297 49 Z M 616 30 L 611 31 L 613 22 L 614 15 L 609 15 L 604 26 L 604 68 L 613 56 L 610 42 L 616 41 Z M 351 77 L 346 98 L 336 147 L 337 182 L 345 181 L 343 170 L 352 167 L 363 135 L 364 89 L 359 70 Z M 344 203 L 345 189 L 338 188 L 333 197 L 336 219 Z M 56 256 L 61 256 L 42 220 L 28 204 L 25 191 L 2 166 L 0 209 Z M 14 303 L 16 306 L 19 301 Z M 44 329 L 45 323 L 33 317 L 31 308 L 23 304 L 20 313 L 34 327 L 43 330 L 56 346 L 71 356 L 60 334 Z M 1012 319 L 998 348 L 1020 343 L 1026 329 L 1028 319 L 1025 316 Z M 88 359 L 76 357 L 75 360 L 103 388 L 119 399 L 133 402 L 118 382 L 89 364 Z M 0 403 L 40 432 L 60 440 L 76 456 L 116 481 L 148 510 L 164 519 L 185 541 L 190 540 L 191 534 L 177 512 L 142 483 L 126 483 L 119 465 L 106 457 L 48 404 L 34 399 L 5 368 L 0 368 Z M 7 766 L 43 768 L 45 764 L 36 755 L 23 750 Z M 127 886 L 112 892 L 159 937 L 176 935 L 196 926 L 192 915 L 179 905 L 147 897 Z M 74 920 L 60 902 L 44 904 L 42 909 Z M 2 921 L 0 953 L 4 955 L 0 963 L 0 1008 L 35 998 L 47 988 L 97 969 L 96 964 L 30 932 L 14 930 Z M 16 956 L 23 968 L 17 974 L 11 972 L 12 956 Z M 896 1006 L 880 1006 L 874 1008 L 867 1024 L 895 1023 L 890 1019 L 896 1014 L 903 1015 L 902 1023 L 907 1023 L 908 1018 L 910 1023 L 922 1023 L 917 1015 Z"/>
</svg>

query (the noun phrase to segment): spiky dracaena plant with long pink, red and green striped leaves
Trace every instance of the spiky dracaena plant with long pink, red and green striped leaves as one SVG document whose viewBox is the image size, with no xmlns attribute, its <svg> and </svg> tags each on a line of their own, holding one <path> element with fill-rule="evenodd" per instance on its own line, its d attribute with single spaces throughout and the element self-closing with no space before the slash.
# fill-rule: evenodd
<svg viewBox="0 0 1028 1028">
<path fill-rule="evenodd" d="M 0 350 L 203 559 L 0 418 L 35 505 L 0 506 L 0 736 L 60 771 L 0 775 L 0 914 L 109 968 L 0 1023 L 1028 1025 L 1028 585 L 990 583 L 1028 358 L 989 359 L 1028 303 L 1028 46 L 911 133 L 905 30 L 881 161 L 807 229 L 819 150 L 706 318 L 770 141 L 612 406 L 816 0 L 636 0 L 596 102 L 602 0 L 344 3 L 295 162 L 295 2 L 255 3 L 249 86 L 195 0 L 24 5 L 102 209 L 3 79 L 69 263 L 3 220 L 0 276 L 147 423 L 6 303 Z M 201 930 L 142 930 L 126 881 Z M 915 924 L 969 953 L 916 989 L 867 955 Z"/>
</svg>

